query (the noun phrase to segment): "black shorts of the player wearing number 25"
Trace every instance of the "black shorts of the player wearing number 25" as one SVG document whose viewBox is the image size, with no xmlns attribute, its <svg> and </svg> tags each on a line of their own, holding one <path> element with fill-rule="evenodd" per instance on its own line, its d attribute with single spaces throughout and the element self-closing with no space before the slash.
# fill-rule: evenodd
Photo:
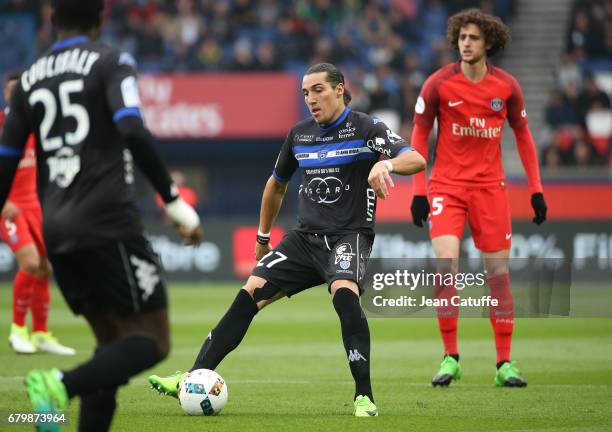
<svg viewBox="0 0 612 432">
<path fill-rule="evenodd" d="M 55 279 L 75 314 L 129 315 L 168 305 L 162 267 L 143 237 L 50 254 Z"/>
</svg>

